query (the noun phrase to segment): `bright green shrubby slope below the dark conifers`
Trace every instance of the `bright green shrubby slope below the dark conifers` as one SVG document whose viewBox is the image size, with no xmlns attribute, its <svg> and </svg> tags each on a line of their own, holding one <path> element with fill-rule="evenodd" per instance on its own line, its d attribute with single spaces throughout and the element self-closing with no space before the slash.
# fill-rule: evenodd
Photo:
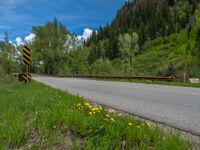
<svg viewBox="0 0 200 150">
<path fill-rule="evenodd" d="M 133 75 L 165 76 L 169 71 L 183 78 L 187 64 L 188 77 L 200 77 L 200 58 L 196 54 L 196 35 L 200 29 L 200 8 L 195 11 L 195 23 L 188 39 L 188 29 L 167 37 L 159 37 L 144 44 L 143 50 L 134 58 Z M 113 61 L 118 71 L 121 63 Z M 121 66 L 121 67 L 119 67 Z"/>
</svg>

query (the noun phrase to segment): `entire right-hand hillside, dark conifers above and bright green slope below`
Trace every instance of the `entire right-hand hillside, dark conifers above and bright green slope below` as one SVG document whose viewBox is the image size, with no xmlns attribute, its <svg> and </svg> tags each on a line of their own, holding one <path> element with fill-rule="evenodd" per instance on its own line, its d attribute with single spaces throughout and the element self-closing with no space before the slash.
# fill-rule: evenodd
<svg viewBox="0 0 200 150">
<path fill-rule="evenodd" d="M 126 2 L 110 25 L 100 27 L 85 42 L 91 49 L 87 59 L 90 70 L 94 74 L 140 76 L 174 73 L 180 79 L 184 72 L 187 77 L 200 76 L 199 13 L 199 1 Z M 135 42 L 139 49 L 133 46 Z"/>
</svg>

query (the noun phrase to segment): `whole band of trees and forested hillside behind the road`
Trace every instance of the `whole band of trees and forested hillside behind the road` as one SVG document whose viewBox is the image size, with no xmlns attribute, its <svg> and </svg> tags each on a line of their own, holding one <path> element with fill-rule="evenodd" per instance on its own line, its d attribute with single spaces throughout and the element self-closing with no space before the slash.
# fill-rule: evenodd
<svg viewBox="0 0 200 150">
<path fill-rule="evenodd" d="M 77 41 L 56 18 L 35 26 L 31 71 L 54 75 L 200 77 L 198 0 L 127 1 L 110 24 Z M 0 72 L 22 72 L 21 47 L 5 34 Z M 21 66 L 21 67 L 20 67 Z M 184 70 L 187 66 L 187 70 Z"/>
</svg>

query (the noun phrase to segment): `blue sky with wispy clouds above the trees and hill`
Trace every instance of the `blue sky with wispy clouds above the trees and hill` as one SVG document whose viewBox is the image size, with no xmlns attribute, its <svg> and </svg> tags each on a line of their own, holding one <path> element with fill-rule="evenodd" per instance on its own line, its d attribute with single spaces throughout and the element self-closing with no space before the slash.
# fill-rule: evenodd
<svg viewBox="0 0 200 150">
<path fill-rule="evenodd" d="M 54 16 L 71 33 L 82 35 L 85 28 L 97 30 L 115 17 L 125 0 L 0 0 L 0 39 L 9 33 L 11 41 L 31 33 L 32 26 L 44 25 Z"/>
</svg>

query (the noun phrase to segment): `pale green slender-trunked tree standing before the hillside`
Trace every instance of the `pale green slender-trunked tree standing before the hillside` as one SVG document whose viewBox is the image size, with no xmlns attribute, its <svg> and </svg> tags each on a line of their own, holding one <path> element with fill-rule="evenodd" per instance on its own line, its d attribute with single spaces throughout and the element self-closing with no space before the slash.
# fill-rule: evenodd
<svg viewBox="0 0 200 150">
<path fill-rule="evenodd" d="M 139 37 L 137 33 L 133 32 L 131 35 L 128 33 L 119 35 L 119 51 L 121 53 L 121 57 L 126 60 L 129 59 L 129 63 L 131 65 L 130 73 L 132 75 L 132 64 L 133 57 L 139 52 L 138 46 Z"/>
</svg>

